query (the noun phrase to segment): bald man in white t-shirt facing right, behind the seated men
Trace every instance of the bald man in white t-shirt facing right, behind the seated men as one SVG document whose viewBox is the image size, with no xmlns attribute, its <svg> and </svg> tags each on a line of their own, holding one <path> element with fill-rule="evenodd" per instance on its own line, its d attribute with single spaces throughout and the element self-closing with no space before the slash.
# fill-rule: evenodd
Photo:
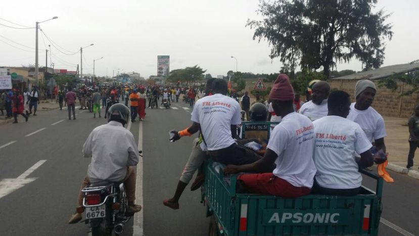
<svg viewBox="0 0 419 236">
<path fill-rule="evenodd" d="M 307 116 L 311 121 L 328 115 L 328 96 L 330 86 L 325 81 L 313 85 L 311 101 L 303 104 L 298 113 Z"/>
</svg>

